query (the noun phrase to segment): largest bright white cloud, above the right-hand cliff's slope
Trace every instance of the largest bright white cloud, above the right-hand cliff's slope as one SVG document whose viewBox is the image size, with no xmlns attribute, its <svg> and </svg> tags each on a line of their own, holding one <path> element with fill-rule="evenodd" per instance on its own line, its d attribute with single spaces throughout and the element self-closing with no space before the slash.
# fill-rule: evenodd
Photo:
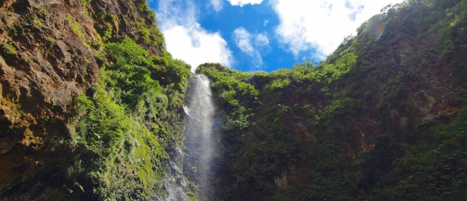
<svg viewBox="0 0 467 201">
<path fill-rule="evenodd" d="M 403 0 L 272 0 L 280 24 L 276 29 L 281 43 L 295 56 L 310 54 L 325 59 L 345 36 L 388 4 Z"/>
</svg>

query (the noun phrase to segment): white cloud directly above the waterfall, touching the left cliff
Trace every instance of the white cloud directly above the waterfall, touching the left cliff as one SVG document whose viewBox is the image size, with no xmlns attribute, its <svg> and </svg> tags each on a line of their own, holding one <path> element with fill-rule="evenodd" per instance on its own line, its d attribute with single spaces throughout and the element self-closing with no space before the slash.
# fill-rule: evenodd
<svg viewBox="0 0 467 201">
<path fill-rule="evenodd" d="M 220 33 L 208 32 L 201 27 L 191 0 L 159 1 L 158 6 L 158 22 L 167 50 L 174 58 L 190 64 L 192 71 L 205 62 L 231 65 L 233 57 L 227 42 Z"/>
</svg>

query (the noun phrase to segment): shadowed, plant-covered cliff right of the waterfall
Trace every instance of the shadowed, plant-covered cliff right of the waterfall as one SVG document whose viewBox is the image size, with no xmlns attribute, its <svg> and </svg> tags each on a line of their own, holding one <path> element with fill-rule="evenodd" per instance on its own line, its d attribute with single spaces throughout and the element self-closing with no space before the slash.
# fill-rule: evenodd
<svg viewBox="0 0 467 201">
<path fill-rule="evenodd" d="M 466 12 L 465 1 L 408 1 L 318 65 L 198 67 L 224 122 L 219 197 L 467 198 Z"/>
</svg>

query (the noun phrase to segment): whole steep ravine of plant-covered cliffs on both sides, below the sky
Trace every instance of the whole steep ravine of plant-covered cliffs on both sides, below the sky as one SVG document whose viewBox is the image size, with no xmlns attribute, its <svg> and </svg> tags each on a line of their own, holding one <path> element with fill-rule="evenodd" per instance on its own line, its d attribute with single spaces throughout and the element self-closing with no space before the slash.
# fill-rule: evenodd
<svg viewBox="0 0 467 201">
<path fill-rule="evenodd" d="M 200 65 L 205 157 L 144 0 L 0 0 L 0 200 L 467 199 L 466 29 L 408 0 L 319 64 Z"/>
</svg>

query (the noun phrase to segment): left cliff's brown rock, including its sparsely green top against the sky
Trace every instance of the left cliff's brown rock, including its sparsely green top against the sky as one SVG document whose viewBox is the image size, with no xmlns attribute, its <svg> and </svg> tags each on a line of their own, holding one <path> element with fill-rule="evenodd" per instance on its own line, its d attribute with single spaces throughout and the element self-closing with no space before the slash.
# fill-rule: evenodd
<svg viewBox="0 0 467 201">
<path fill-rule="evenodd" d="M 162 37 L 145 1 L 0 1 L 0 194 L 66 191 L 57 172 L 72 150 L 73 97 L 96 81 L 103 42 L 130 36 L 160 56 L 163 40 L 151 34 Z"/>
</svg>

